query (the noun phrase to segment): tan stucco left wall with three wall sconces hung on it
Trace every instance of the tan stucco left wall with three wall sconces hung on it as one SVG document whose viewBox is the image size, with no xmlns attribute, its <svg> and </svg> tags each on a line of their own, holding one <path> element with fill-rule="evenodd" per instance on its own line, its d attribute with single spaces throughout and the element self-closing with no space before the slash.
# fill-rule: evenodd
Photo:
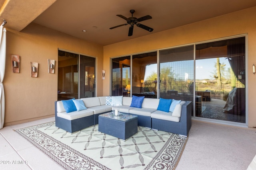
<svg viewBox="0 0 256 170">
<path fill-rule="evenodd" d="M 97 96 L 102 96 L 103 46 L 31 23 L 22 31 L 7 29 L 4 76 L 5 126 L 54 116 L 57 100 L 58 48 L 96 57 Z M 11 55 L 20 55 L 20 73 L 12 72 Z M 48 73 L 47 59 L 55 60 Z M 30 62 L 39 63 L 38 77 L 30 77 Z"/>
</svg>

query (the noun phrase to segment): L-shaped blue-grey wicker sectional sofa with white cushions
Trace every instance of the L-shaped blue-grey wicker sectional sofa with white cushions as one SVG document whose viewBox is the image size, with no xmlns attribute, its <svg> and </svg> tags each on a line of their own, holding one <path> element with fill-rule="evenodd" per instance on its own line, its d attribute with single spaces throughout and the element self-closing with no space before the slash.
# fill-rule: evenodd
<svg viewBox="0 0 256 170">
<path fill-rule="evenodd" d="M 62 101 L 55 102 L 56 127 L 74 133 L 98 124 L 98 115 L 113 110 L 112 105 L 106 105 L 106 96 L 81 98 L 79 100 L 84 102 L 87 109 L 70 113 L 66 113 Z M 172 115 L 172 112 L 158 110 L 159 102 L 160 99 L 144 98 L 142 108 L 137 108 L 130 107 L 131 97 L 122 97 L 120 112 L 137 115 L 138 126 L 188 136 L 191 127 L 191 102 L 181 102 L 177 105 L 176 107 L 180 107 L 181 111 L 180 115 L 175 116 Z"/>
</svg>

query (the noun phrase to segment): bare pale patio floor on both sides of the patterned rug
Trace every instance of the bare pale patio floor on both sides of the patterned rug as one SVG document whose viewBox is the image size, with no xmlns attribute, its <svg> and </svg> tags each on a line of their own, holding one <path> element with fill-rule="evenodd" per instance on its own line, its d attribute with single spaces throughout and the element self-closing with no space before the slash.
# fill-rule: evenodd
<svg viewBox="0 0 256 170">
<path fill-rule="evenodd" d="M 63 169 L 56 160 L 14 131 L 51 121 L 54 121 L 54 117 L 0 129 L 0 169 Z M 255 129 L 192 121 L 190 134 L 176 170 L 246 169 L 256 153 L 256 145 L 251 142 L 256 140 L 255 132 Z"/>
</svg>

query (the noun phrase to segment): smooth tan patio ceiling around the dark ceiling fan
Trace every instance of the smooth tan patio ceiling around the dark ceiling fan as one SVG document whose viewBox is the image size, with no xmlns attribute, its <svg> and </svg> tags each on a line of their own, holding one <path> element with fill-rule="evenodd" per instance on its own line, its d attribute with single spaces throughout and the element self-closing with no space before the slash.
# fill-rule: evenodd
<svg viewBox="0 0 256 170">
<path fill-rule="evenodd" d="M 256 0 L 56 0 L 32 21 L 86 41 L 109 45 L 253 6 Z M 131 9 L 135 10 L 136 18 L 152 16 L 140 23 L 154 31 L 134 26 L 133 35 L 128 37 L 129 25 L 109 29 L 126 23 L 116 15 L 129 18 Z"/>
</svg>

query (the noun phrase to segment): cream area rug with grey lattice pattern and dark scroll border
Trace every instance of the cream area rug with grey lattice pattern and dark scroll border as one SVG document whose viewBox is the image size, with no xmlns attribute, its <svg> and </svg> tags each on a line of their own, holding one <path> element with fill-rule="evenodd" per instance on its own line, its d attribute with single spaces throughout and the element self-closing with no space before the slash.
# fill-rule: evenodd
<svg viewBox="0 0 256 170">
<path fill-rule="evenodd" d="M 126 141 L 98 132 L 98 125 L 70 134 L 54 121 L 16 132 L 66 170 L 172 170 L 187 141 L 145 127 Z"/>
</svg>

